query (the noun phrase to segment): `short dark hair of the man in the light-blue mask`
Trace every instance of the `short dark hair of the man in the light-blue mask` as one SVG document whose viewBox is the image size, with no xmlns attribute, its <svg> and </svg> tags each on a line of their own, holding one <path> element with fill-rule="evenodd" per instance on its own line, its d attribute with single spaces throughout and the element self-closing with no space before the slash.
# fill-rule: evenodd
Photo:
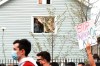
<svg viewBox="0 0 100 66">
<path fill-rule="evenodd" d="M 19 43 L 19 50 L 24 49 L 25 50 L 25 56 L 28 56 L 28 54 L 31 51 L 31 43 L 27 39 L 21 39 L 21 40 L 15 40 L 13 44 Z"/>
</svg>

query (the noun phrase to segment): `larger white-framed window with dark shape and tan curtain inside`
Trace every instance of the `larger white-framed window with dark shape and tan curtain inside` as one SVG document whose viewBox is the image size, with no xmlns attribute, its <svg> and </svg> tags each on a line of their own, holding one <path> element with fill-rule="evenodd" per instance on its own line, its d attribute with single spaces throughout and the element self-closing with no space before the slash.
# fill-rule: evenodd
<svg viewBox="0 0 100 66">
<path fill-rule="evenodd" d="M 54 16 L 34 16 L 32 17 L 33 33 L 55 33 Z"/>
</svg>

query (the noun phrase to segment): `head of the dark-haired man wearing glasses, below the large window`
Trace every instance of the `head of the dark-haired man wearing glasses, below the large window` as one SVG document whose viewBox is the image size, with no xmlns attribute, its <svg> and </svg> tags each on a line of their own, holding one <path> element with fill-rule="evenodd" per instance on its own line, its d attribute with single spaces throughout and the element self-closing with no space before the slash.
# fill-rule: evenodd
<svg viewBox="0 0 100 66">
<path fill-rule="evenodd" d="M 50 63 L 50 60 L 50 53 L 47 51 L 42 51 L 37 54 L 37 61 L 40 62 L 40 64 Z"/>
</svg>

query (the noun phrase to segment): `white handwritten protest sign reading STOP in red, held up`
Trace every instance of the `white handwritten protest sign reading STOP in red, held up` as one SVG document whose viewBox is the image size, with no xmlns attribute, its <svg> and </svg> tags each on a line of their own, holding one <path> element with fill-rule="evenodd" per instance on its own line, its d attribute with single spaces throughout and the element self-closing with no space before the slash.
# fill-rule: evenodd
<svg viewBox="0 0 100 66">
<path fill-rule="evenodd" d="M 87 42 L 90 44 L 96 43 L 95 26 L 93 22 L 87 21 L 75 26 L 79 42 L 79 48 L 85 48 Z"/>
</svg>

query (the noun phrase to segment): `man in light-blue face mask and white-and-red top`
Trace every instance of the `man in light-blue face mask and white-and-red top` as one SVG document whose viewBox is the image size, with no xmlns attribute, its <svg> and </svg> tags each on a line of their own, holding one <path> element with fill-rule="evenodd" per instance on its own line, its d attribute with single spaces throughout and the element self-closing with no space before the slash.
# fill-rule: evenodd
<svg viewBox="0 0 100 66">
<path fill-rule="evenodd" d="M 27 39 L 15 40 L 13 42 L 12 58 L 18 60 L 18 66 L 37 66 L 33 58 L 28 57 L 31 51 L 31 43 Z"/>
</svg>

